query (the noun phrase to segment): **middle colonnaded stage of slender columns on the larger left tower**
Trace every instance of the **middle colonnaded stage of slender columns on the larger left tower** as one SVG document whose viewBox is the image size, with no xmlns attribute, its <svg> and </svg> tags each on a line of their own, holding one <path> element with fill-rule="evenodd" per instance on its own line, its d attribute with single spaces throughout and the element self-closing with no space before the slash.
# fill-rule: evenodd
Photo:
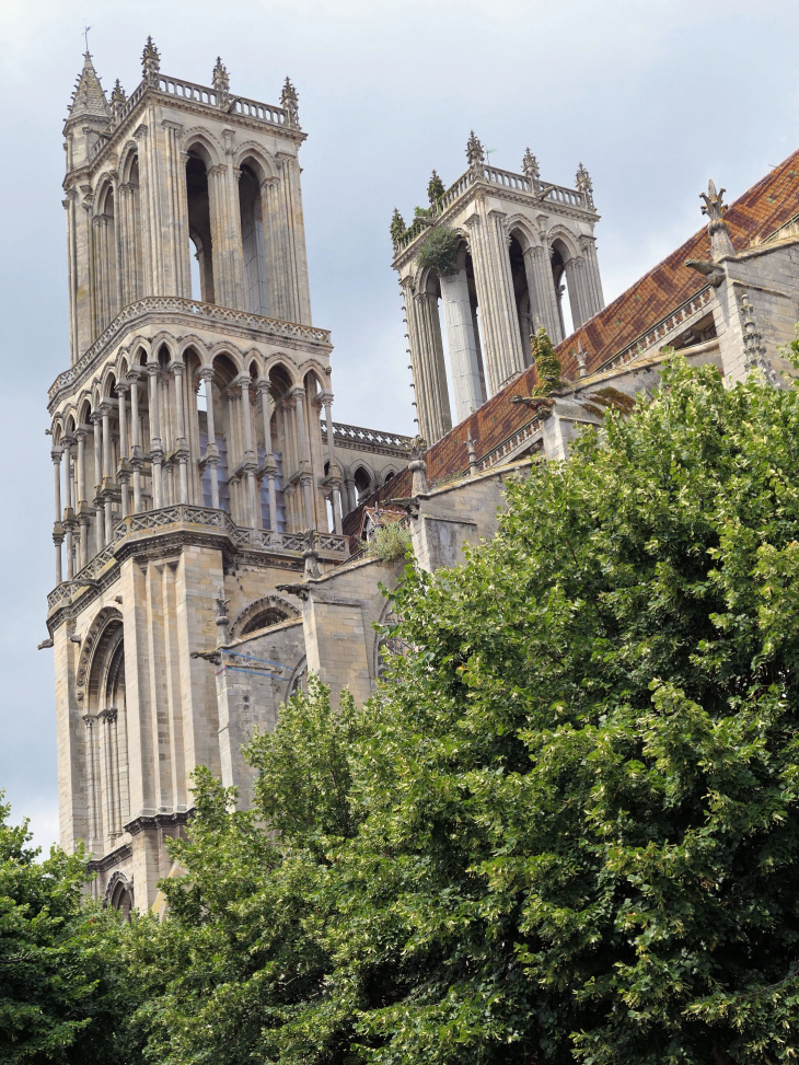
<svg viewBox="0 0 799 1065">
<path fill-rule="evenodd" d="M 321 373 L 166 340 L 131 346 L 53 424 L 56 581 L 111 543 L 118 521 L 175 503 L 243 528 L 341 533 L 333 395 Z"/>
</svg>

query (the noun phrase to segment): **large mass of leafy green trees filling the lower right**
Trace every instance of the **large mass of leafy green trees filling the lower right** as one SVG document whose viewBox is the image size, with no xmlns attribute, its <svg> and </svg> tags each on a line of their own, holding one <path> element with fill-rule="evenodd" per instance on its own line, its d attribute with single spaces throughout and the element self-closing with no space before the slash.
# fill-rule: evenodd
<svg viewBox="0 0 799 1065">
<path fill-rule="evenodd" d="M 363 707 L 311 682 L 196 782 L 134 922 L 164 1065 L 755 1065 L 799 1053 L 799 391 L 675 360 L 406 569 Z M 132 1034 L 131 1034 L 132 1033 Z"/>
</svg>

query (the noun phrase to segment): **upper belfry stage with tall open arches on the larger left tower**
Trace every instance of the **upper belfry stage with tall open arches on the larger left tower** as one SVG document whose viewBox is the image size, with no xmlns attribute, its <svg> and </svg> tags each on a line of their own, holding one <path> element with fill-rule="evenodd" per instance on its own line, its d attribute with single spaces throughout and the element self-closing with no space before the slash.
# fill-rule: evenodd
<svg viewBox="0 0 799 1065">
<path fill-rule="evenodd" d="M 204 130 L 173 147 L 183 160 L 183 177 L 173 185 L 174 234 L 161 254 L 171 261 L 176 294 L 271 315 L 289 322 L 310 321 L 303 271 L 298 271 L 298 242 L 292 218 L 291 163 L 271 160 L 254 147 L 240 151 L 230 167 L 224 150 Z M 288 166 L 288 170 L 287 170 Z M 287 171 L 288 177 L 279 174 Z M 299 194 L 294 190 L 294 197 Z M 286 202 L 283 202 L 286 201 Z M 127 304 L 164 289 L 144 240 L 148 211 L 142 213 L 139 151 L 135 142 L 123 152 L 117 171 L 103 174 L 84 205 L 91 213 L 91 337 L 99 336 Z M 197 268 L 192 268 L 192 257 Z M 88 339 L 88 338 L 86 338 Z M 86 342 L 84 340 L 84 344 Z M 74 350 L 80 343 L 76 338 Z"/>
</svg>

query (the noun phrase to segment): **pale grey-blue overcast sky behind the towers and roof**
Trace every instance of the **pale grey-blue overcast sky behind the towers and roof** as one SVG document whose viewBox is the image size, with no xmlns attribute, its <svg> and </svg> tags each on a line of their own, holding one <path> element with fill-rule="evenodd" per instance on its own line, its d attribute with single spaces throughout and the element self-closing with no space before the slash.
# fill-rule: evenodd
<svg viewBox="0 0 799 1065">
<path fill-rule="evenodd" d="M 696 0 L 2 0 L 2 562 L 0 788 L 38 843 L 57 837 L 53 471 L 46 390 L 69 362 L 61 127 L 85 24 L 106 91 L 128 93 L 152 34 L 161 69 L 233 93 L 300 94 L 315 324 L 333 331 L 337 420 L 413 431 L 387 227 L 426 202 L 435 166 L 490 161 L 571 185 L 582 161 L 602 215 L 610 301 L 702 222 L 713 176 L 740 195 L 799 147 L 799 4 Z"/>
</svg>

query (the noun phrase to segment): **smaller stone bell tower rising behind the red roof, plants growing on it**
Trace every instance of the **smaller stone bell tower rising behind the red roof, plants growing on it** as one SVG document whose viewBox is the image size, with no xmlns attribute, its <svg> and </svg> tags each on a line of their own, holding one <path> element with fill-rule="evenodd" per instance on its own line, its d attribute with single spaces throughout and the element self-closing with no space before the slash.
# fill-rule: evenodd
<svg viewBox="0 0 799 1065">
<path fill-rule="evenodd" d="M 541 180 L 530 149 L 519 174 L 489 166 L 474 132 L 466 160 L 468 169 L 449 188 L 433 171 L 430 207 L 407 229 L 395 211 L 391 227 L 417 421 L 428 443 L 530 364 L 531 333 L 543 326 L 555 344 L 565 338 L 567 292 L 574 328 L 604 306 L 593 235 L 599 215 L 582 163 L 575 188 L 553 185 Z M 436 229 L 453 242 L 445 270 L 419 256 Z"/>
</svg>

